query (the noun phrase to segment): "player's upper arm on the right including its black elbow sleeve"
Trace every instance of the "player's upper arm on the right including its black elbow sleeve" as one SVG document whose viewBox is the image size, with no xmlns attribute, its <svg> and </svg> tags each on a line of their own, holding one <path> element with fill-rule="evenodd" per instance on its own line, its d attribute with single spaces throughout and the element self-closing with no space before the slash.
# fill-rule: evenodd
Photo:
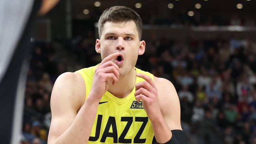
<svg viewBox="0 0 256 144">
<path fill-rule="evenodd" d="M 180 101 L 173 84 L 164 78 L 155 78 L 155 84 L 163 120 L 172 132 L 170 144 L 186 144 L 186 136 L 181 128 Z"/>
</svg>

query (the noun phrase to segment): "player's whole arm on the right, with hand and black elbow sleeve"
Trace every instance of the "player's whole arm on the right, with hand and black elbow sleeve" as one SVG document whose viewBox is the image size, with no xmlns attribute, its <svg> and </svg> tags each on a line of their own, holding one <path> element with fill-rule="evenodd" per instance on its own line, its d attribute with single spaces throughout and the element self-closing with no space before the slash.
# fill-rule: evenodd
<svg viewBox="0 0 256 144">
<path fill-rule="evenodd" d="M 186 144 L 180 122 L 180 102 L 173 84 L 164 78 L 155 77 L 153 82 L 147 75 L 137 76 L 145 81 L 136 84 L 135 99 L 142 100 L 157 142 Z"/>
</svg>

